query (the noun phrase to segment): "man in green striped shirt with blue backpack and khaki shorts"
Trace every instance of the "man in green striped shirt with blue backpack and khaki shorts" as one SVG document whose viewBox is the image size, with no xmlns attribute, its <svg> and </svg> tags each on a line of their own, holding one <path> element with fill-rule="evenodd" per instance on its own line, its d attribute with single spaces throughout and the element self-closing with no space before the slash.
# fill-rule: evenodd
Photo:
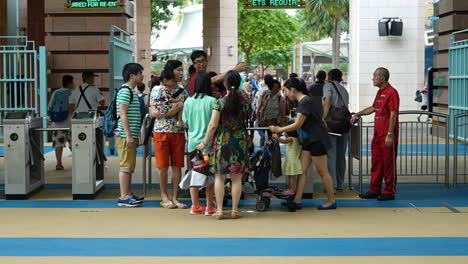
<svg viewBox="0 0 468 264">
<path fill-rule="evenodd" d="M 143 67 L 138 63 L 126 64 L 122 76 L 125 83 L 117 92 L 117 117 L 120 118 L 115 131 L 115 143 L 120 161 L 118 206 L 135 207 L 140 206 L 144 199 L 131 192 L 141 126 L 140 101 L 134 88 L 143 81 Z"/>
</svg>

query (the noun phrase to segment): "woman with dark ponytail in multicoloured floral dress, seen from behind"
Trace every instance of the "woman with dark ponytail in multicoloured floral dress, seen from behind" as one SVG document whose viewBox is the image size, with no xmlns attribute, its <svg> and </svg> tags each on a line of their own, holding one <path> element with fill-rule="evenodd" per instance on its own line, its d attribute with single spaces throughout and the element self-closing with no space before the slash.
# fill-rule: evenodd
<svg viewBox="0 0 468 264">
<path fill-rule="evenodd" d="M 223 199 L 226 175 L 232 181 L 231 218 L 240 217 L 238 205 L 242 193 L 242 174 L 248 170 L 247 122 L 250 112 L 248 95 L 239 90 L 241 77 L 235 71 L 226 73 L 227 95 L 213 105 L 205 139 L 197 148 L 203 151 L 211 143 L 210 165 L 215 174 L 215 196 L 218 206 L 214 217 L 224 218 Z"/>
</svg>

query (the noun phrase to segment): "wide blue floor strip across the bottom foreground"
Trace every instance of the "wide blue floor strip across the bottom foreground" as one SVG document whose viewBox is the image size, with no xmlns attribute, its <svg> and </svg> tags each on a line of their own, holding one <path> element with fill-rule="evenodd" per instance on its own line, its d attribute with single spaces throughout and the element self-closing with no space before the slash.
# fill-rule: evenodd
<svg viewBox="0 0 468 264">
<path fill-rule="evenodd" d="M 0 248 L 25 257 L 468 256 L 468 238 L 0 238 Z"/>
</svg>

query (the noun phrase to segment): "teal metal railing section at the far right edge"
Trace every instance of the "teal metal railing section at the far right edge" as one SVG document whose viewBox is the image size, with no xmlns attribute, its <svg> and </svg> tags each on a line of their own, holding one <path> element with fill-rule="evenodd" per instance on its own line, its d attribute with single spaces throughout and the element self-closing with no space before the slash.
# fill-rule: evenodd
<svg viewBox="0 0 468 264">
<path fill-rule="evenodd" d="M 467 183 L 468 112 L 456 115 L 453 122 L 453 185 L 456 187 L 459 176 L 463 177 L 463 183 Z"/>
</svg>

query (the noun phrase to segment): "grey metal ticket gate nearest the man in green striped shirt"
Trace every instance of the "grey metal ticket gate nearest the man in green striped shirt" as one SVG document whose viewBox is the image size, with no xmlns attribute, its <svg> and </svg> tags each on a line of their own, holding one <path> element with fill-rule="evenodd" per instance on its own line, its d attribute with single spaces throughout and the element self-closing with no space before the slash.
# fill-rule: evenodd
<svg viewBox="0 0 468 264">
<path fill-rule="evenodd" d="M 72 194 L 73 199 L 94 199 L 104 188 L 104 154 L 102 117 L 97 112 L 75 112 L 71 119 L 72 130 Z"/>
</svg>

